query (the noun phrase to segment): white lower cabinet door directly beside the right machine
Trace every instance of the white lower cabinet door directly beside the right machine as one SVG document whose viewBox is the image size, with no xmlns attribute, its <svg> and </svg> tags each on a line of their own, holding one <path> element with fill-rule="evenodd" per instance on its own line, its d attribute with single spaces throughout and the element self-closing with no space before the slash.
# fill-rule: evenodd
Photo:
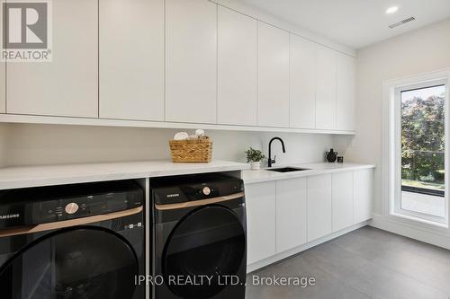
<svg viewBox="0 0 450 299">
<path fill-rule="evenodd" d="M 275 181 L 246 186 L 247 264 L 275 255 Z"/>
</svg>

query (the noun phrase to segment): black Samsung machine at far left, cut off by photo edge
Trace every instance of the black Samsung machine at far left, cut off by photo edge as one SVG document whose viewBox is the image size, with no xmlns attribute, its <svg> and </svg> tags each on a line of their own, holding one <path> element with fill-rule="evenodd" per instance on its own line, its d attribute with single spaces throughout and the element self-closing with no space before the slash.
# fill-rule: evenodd
<svg viewBox="0 0 450 299">
<path fill-rule="evenodd" d="M 0 191 L 0 297 L 144 299 L 143 203 L 130 180 Z"/>
</svg>

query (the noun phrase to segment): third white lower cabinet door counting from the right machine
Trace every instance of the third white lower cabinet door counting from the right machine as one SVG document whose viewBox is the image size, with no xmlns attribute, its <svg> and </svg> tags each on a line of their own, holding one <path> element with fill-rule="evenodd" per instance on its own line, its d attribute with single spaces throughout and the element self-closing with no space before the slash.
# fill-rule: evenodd
<svg viewBox="0 0 450 299">
<path fill-rule="evenodd" d="M 308 242 L 331 233 L 331 174 L 308 177 Z"/>
</svg>

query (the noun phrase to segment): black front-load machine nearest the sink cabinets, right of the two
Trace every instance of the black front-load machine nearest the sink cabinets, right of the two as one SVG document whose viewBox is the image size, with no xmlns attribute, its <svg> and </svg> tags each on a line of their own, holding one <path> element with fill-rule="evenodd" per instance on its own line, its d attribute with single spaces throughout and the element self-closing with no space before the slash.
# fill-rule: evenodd
<svg viewBox="0 0 450 299">
<path fill-rule="evenodd" d="M 150 180 L 155 299 L 244 299 L 242 180 L 220 174 Z"/>
</svg>

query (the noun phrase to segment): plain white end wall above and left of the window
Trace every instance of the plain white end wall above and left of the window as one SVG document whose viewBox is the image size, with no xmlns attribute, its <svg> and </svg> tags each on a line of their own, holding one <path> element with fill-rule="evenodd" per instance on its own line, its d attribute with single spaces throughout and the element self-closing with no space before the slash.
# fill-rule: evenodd
<svg viewBox="0 0 450 299">
<path fill-rule="evenodd" d="M 450 67 L 450 20 L 385 40 L 357 53 L 356 137 L 340 139 L 347 158 L 375 163 L 375 213 L 382 214 L 383 82 Z"/>
</svg>

